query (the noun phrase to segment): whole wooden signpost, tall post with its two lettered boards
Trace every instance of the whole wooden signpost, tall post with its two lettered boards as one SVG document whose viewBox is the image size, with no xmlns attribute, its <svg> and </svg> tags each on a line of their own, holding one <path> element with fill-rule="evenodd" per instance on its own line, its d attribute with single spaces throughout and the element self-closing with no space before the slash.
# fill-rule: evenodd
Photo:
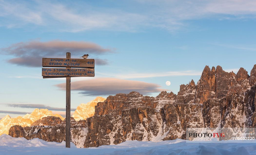
<svg viewBox="0 0 256 155">
<path fill-rule="evenodd" d="M 71 59 L 71 53 L 66 58 L 42 58 L 43 78 L 66 77 L 66 148 L 70 148 L 70 78 L 94 77 L 94 59 Z M 71 68 L 74 67 L 74 68 Z"/>
</svg>

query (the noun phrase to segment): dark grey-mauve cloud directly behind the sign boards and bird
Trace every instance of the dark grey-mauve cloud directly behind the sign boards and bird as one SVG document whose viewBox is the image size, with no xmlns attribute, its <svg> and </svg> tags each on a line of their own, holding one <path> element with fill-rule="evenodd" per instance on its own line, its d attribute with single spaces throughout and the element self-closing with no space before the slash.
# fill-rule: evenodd
<svg viewBox="0 0 256 155">
<path fill-rule="evenodd" d="M 16 58 L 8 60 L 9 63 L 28 66 L 41 67 L 42 57 L 60 57 L 65 58 L 65 52 L 72 51 L 72 57 L 82 56 L 84 53 L 102 55 L 112 53 L 113 49 L 103 48 L 95 43 L 84 41 L 61 41 L 52 40 L 41 42 L 39 40 L 29 42 L 19 42 L 0 49 L 2 54 L 13 55 Z M 106 65 L 105 59 L 96 59 L 98 65 Z"/>
</svg>

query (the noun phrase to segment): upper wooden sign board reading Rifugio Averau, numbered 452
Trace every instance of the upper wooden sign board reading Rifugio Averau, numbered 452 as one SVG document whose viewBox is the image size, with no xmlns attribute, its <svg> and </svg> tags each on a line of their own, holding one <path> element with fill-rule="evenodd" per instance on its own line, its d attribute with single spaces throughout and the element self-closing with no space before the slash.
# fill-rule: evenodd
<svg viewBox="0 0 256 155">
<path fill-rule="evenodd" d="M 94 68 L 94 59 L 42 58 L 42 67 Z"/>
</svg>

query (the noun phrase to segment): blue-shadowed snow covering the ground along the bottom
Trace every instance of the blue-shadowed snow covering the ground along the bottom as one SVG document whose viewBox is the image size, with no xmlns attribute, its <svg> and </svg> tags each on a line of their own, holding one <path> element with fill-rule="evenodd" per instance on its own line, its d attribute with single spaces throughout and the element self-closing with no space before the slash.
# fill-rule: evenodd
<svg viewBox="0 0 256 155">
<path fill-rule="evenodd" d="M 216 141 L 215 143 L 186 142 L 186 140 L 125 141 L 118 145 L 100 146 L 98 148 L 65 148 L 65 142 L 46 142 L 38 138 L 26 140 L 13 138 L 9 135 L 0 136 L 0 154 L 232 154 L 256 155 L 256 140 L 245 141 Z"/>
</svg>

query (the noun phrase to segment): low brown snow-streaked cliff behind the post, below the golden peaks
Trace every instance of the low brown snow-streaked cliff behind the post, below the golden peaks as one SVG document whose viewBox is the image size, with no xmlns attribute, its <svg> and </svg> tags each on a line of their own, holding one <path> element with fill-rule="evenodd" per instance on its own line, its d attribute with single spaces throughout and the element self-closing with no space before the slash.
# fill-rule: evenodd
<svg viewBox="0 0 256 155">
<path fill-rule="evenodd" d="M 59 117 L 48 116 L 35 121 L 31 127 L 12 126 L 9 135 L 12 137 L 24 137 L 26 139 L 39 138 L 45 141 L 62 142 L 65 140 L 66 120 Z M 71 141 L 78 147 L 83 147 L 88 132 L 86 120 L 76 121 L 73 117 L 70 120 Z"/>
</svg>

